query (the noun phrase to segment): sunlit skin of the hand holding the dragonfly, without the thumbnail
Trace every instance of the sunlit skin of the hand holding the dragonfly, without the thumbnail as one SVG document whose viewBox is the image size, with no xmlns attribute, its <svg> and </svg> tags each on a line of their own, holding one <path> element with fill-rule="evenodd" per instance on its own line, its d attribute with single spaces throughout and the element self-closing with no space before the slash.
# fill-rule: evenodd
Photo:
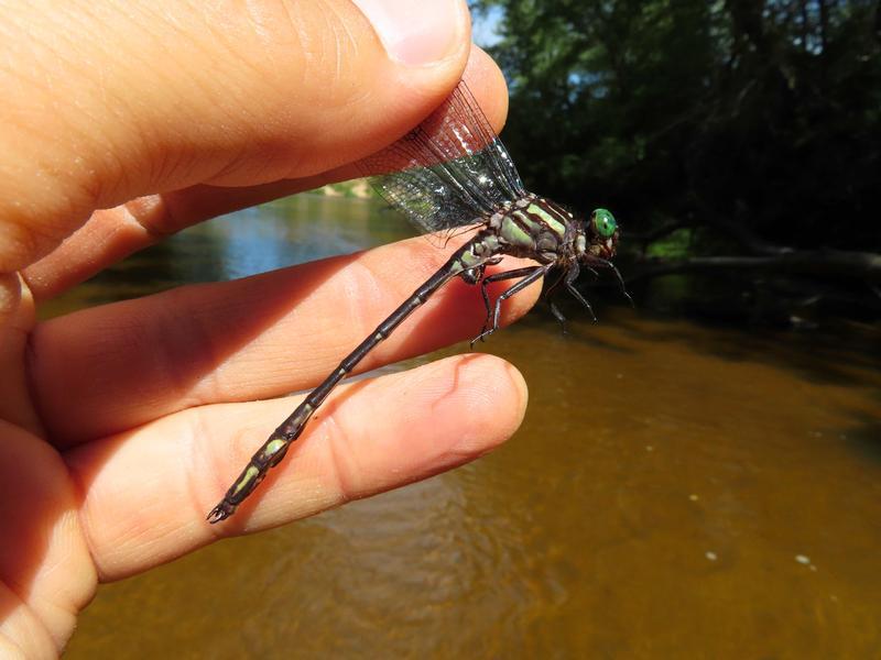
<svg viewBox="0 0 881 660">
<path fill-rule="evenodd" d="M 444 262 L 424 239 L 35 320 L 164 235 L 349 178 L 463 72 L 500 128 L 504 82 L 450 2 L 443 56 L 418 65 L 390 58 L 347 0 L 0 4 L 0 656 L 56 656 L 99 582 L 427 477 L 515 430 L 525 385 L 489 355 L 344 386 L 236 516 L 205 520 L 298 400 L 272 397 L 317 384 Z M 362 370 L 482 320 L 457 280 Z"/>
</svg>

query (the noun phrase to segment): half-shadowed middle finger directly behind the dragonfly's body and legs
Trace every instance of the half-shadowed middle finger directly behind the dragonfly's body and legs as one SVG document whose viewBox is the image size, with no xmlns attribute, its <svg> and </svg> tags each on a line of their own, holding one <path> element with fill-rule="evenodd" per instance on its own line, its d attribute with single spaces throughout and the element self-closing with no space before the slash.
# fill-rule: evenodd
<svg viewBox="0 0 881 660">
<path fill-rule="evenodd" d="M 31 392 L 66 447 L 191 406 L 313 387 L 447 256 L 418 238 L 52 319 L 31 336 Z M 513 296 L 505 322 L 539 290 Z M 356 372 L 470 339 L 485 318 L 478 288 L 456 278 Z"/>
</svg>

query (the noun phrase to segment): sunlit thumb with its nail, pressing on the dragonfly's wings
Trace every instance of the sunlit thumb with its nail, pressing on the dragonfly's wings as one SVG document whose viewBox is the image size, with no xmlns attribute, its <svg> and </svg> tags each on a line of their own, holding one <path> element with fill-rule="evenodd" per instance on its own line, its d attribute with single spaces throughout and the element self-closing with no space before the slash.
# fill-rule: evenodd
<svg viewBox="0 0 881 660">
<path fill-rule="evenodd" d="M 314 175 L 417 123 L 465 67 L 467 8 L 358 4 L 0 7 L 0 272 L 47 254 L 95 209 Z"/>
</svg>

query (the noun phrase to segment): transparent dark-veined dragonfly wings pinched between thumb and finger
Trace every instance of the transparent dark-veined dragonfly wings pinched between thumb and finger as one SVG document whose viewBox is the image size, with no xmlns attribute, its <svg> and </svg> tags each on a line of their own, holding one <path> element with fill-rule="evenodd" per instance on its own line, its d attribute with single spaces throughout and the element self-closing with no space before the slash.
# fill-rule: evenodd
<svg viewBox="0 0 881 660">
<path fill-rule="evenodd" d="M 474 224 L 525 194 L 508 150 L 464 81 L 418 127 L 359 167 L 423 232 Z"/>
</svg>

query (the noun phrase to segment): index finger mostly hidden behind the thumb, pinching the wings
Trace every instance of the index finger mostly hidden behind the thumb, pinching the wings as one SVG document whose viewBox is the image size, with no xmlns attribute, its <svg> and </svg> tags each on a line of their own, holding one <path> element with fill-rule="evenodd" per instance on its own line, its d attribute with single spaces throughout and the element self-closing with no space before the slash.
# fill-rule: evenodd
<svg viewBox="0 0 881 660">
<path fill-rule="evenodd" d="M 490 123 L 501 131 L 508 111 L 504 77 L 490 57 L 474 46 L 464 74 Z M 402 124 L 401 134 L 410 130 Z M 316 176 L 238 188 L 197 185 L 141 197 L 99 210 L 73 235 L 24 272 L 34 297 L 43 300 L 84 282 L 163 237 L 224 213 L 347 180 L 359 173 L 342 166 Z"/>
</svg>

